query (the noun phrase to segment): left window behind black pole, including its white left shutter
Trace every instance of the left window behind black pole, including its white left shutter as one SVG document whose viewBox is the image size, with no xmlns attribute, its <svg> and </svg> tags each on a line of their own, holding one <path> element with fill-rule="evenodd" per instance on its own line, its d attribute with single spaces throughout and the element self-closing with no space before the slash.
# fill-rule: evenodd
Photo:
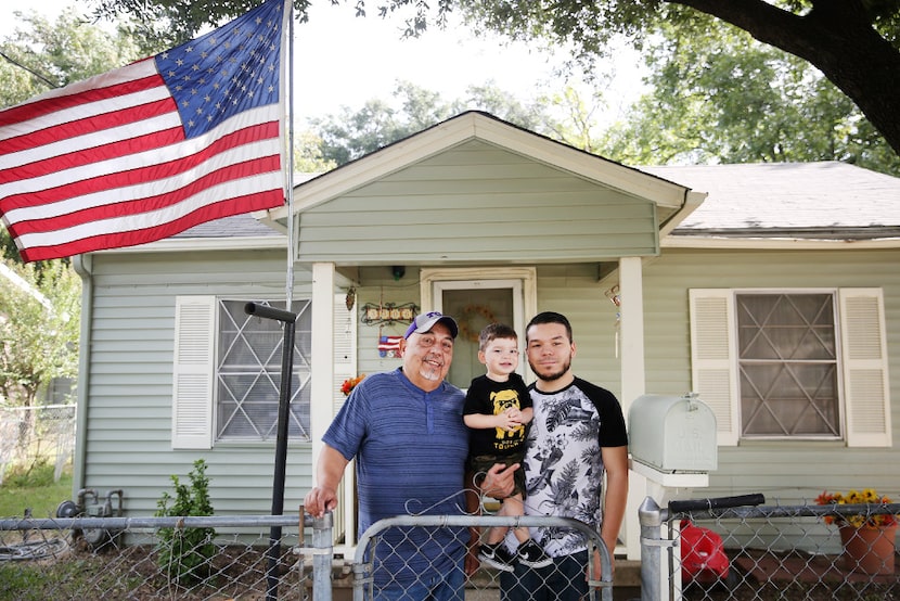
<svg viewBox="0 0 900 601">
<path fill-rule="evenodd" d="M 214 440 L 274 440 L 281 396 L 282 323 L 246 315 L 246 300 L 176 299 L 172 447 L 208 449 Z M 260 303 L 284 308 L 284 303 Z M 297 321 L 288 435 L 309 439 L 311 308 Z"/>
</svg>

